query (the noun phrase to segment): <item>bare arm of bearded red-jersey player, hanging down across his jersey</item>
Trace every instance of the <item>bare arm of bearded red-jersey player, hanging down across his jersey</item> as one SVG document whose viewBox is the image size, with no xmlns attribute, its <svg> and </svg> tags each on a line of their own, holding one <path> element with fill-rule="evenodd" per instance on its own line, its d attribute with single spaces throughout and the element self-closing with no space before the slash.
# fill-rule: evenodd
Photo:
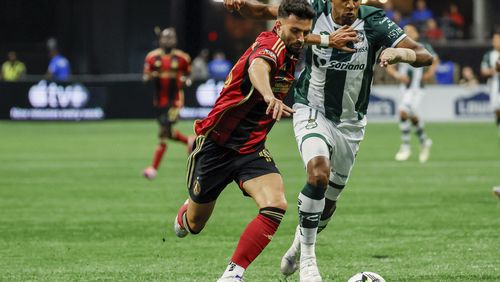
<svg viewBox="0 0 500 282">
<path fill-rule="evenodd" d="M 252 85 L 262 94 L 267 104 L 266 114 L 272 112 L 273 119 L 280 120 L 282 115 L 291 116 L 294 110 L 285 105 L 280 99 L 274 97 L 271 84 L 269 83 L 270 72 L 271 66 L 262 58 L 255 58 L 248 68 Z"/>
</svg>

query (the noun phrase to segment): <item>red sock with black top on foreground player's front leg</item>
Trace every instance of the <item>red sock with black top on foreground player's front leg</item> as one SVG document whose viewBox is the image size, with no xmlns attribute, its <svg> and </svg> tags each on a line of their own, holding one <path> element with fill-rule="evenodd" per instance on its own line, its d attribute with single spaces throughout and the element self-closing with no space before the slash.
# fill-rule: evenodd
<svg viewBox="0 0 500 282">
<path fill-rule="evenodd" d="M 260 209 L 259 214 L 241 234 L 231 261 L 246 269 L 269 244 L 284 214 L 285 211 L 278 208 Z"/>
</svg>

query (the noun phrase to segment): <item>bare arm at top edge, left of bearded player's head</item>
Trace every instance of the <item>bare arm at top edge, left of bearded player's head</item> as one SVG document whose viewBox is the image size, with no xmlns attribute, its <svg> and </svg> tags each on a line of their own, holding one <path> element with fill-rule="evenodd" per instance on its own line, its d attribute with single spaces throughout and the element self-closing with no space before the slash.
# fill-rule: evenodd
<svg viewBox="0 0 500 282">
<path fill-rule="evenodd" d="M 256 20 L 274 20 L 278 16 L 277 5 L 266 5 L 255 0 L 224 0 L 224 7 Z"/>
</svg>

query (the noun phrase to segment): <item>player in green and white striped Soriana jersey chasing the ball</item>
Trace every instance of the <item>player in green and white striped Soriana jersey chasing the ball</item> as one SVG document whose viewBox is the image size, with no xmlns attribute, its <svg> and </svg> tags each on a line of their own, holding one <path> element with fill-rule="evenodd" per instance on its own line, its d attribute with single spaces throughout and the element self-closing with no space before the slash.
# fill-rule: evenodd
<svg viewBox="0 0 500 282">
<path fill-rule="evenodd" d="M 316 233 L 336 209 L 366 126 L 373 66 L 432 64 L 432 55 L 385 16 L 360 0 L 310 0 L 316 10 L 305 41 L 306 67 L 294 89 L 293 125 L 307 181 L 299 194 L 299 226 L 281 261 L 285 275 L 300 268 L 300 281 L 322 281 L 316 264 Z M 224 0 L 227 9 L 259 19 L 276 17 L 276 6 L 255 0 Z M 345 31 L 345 33 L 343 33 Z M 331 41 L 356 33 L 341 49 Z M 331 36 L 338 35 L 338 36 Z M 340 42 L 340 41 L 339 41 Z M 344 42 L 345 43 L 345 42 Z"/>
</svg>

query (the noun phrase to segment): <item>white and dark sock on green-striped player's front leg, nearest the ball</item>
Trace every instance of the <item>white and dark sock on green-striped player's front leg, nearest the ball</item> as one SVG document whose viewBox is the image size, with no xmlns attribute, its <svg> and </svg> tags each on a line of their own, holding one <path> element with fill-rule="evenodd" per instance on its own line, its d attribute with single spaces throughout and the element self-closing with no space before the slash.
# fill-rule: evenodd
<svg viewBox="0 0 500 282">
<path fill-rule="evenodd" d="M 325 207 L 325 189 L 307 183 L 299 194 L 301 257 L 315 256 L 316 233 Z"/>
</svg>

